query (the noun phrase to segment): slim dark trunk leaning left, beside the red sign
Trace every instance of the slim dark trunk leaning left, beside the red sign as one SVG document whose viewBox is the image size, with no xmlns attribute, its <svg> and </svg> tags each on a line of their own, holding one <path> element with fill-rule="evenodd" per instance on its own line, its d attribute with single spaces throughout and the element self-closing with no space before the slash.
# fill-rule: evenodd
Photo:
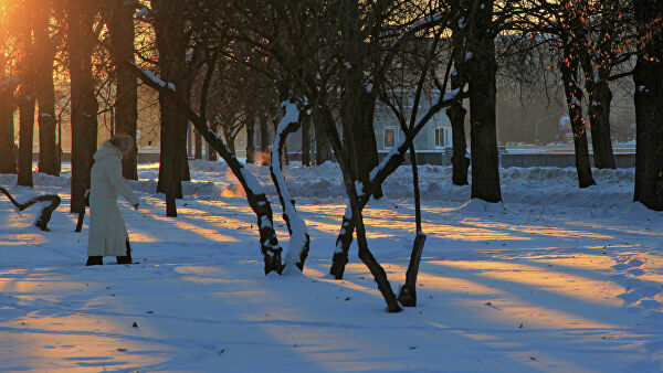
<svg viewBox="0 0 663 373">
<path fill-rule="evenodd" d="M 589 149 L 587 143 L 587 129 L 582 117 L 582 88 L 578 85 L 578 60 L 572 51 L 565 51 L 566 61 L 559 63 L 561 81 L 569 108 L 569 118 L 573 130 L 573 146 L 576 148 L 576 170 L 578 171 L 578 184 L 587 188 L 596 184 L 591 175 L 589 162 Z"/>
</svg>

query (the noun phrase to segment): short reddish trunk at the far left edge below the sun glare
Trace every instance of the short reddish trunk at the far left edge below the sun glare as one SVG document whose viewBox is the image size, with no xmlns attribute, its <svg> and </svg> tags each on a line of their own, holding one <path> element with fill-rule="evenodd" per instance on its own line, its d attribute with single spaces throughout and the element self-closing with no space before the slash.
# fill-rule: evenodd
<svg viewBox="0 0 663 373">
<path fill-rule="evenodd" d="M 17 173 L 13 92 L 17 84 L 0 87 L 0 173 Z"/>
</svg>

